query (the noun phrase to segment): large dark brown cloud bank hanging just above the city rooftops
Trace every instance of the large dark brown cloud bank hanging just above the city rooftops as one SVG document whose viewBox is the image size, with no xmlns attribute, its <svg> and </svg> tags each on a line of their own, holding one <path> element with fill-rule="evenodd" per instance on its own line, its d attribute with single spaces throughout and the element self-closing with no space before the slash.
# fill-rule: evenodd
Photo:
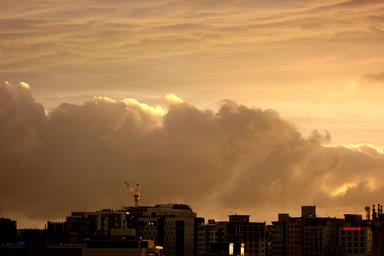
<svg viewBox="0 0 384 256">
<path fill-rule="evenodd" d="M 178 104 L 165 110 L 96 97 L 45 114 L 29 87 L 1 85 L 2 214 L 28 225 L 131 204 L 125 180 L 141 184 L 142 204 L 260 220 L 313 201 L 359 211 L 384 191 L 384 155 L 373 146 L 325 146 L 329 134 L 304 137 L 274 110 L 227 100 L 214 112 L 170 99 Z"/>
</svg>

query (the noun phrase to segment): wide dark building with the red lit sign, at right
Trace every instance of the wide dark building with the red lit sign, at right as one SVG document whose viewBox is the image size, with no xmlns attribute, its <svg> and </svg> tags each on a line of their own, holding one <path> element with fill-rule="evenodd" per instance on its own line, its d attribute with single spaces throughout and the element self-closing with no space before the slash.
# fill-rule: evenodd
<svg viewBox="0 0 384 256">
<path fill-rule="evenodd" d="M 362 215 L 317 217 L 314 206 L 303 206 L 301 217 L 279 214 L 272 224 L 273 256 L 372 255 L 371 221 Z"/>
</svg>

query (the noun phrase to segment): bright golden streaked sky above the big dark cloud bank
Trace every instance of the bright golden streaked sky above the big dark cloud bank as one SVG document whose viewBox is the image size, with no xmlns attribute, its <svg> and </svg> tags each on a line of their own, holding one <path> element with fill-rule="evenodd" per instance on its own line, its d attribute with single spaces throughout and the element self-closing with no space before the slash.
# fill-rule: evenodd
<svg viewBox="0 0 384 256">
<path fill-rule="evenodd" d="M 219 113 L 227 104 L 273 109 L 306 139 L 318 129 L 329 132 L 328 145 L 344 150 L 384 147 L 382 0 L 4 0 L 0 38 L 0 81 L 8 81 L 2 92 L 18 102 L 19 90 L 32 91 L 21 101 L 41 102 L 42 119 L 55 119 L 68 106 L 81 116 L 98 99 L 157 116 L 137 124 L 145 130 L 172 116 L 163 98 L 173 93 L 197 113 Z M 6 97 L 0 95 L 9 107 Z M 71 104 L 57 107 L 63 102 Z M 152 118 L 157 121 L 147 124 Z M 211 121 L 197 121 L 204 122 Z M 373 166 L 376 177 L 379 164 Z M 372 177 L 353 176 L 327 189 L 337 194 L 358 187 L 359 179 L 371 188 Z"/>
</svg>

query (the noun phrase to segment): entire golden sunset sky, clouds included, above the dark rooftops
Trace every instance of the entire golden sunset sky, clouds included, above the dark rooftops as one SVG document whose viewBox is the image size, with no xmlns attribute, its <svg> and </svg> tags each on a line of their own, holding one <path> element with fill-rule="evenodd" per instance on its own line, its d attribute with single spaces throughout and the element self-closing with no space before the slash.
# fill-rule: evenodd
<svg viewBox="0 0 384 256">
<path fill-rule="evenodd" d="M 124 180 L 221 219 L 380 199 L 383 1 L 0 4 L 0 215 L 118 208 Z"/>
</svg>

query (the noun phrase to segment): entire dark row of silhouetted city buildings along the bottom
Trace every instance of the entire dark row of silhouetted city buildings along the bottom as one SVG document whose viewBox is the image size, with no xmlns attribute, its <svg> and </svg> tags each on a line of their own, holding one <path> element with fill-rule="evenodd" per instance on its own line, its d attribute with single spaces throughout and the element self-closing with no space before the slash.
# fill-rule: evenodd
<svg viewBox="0 0 384 256">
<path fill-rule="evenodd" d="M 136 192 L 133 192 L 136 194 Z M 0 218 L 3 255 L 158 255 L 158 256 L 376 256 L 383 253 L 383 205 L 365 215 L 319 216 L 315 205 L 301 214 L 279 213 L 272 223 L 249 214 L 227 220 L 199 217 L 185 204 L 73 211 L 44 229 L 18 229 Z M 143 254 L 144 253 L 144 254 Z"/>
</svg>

